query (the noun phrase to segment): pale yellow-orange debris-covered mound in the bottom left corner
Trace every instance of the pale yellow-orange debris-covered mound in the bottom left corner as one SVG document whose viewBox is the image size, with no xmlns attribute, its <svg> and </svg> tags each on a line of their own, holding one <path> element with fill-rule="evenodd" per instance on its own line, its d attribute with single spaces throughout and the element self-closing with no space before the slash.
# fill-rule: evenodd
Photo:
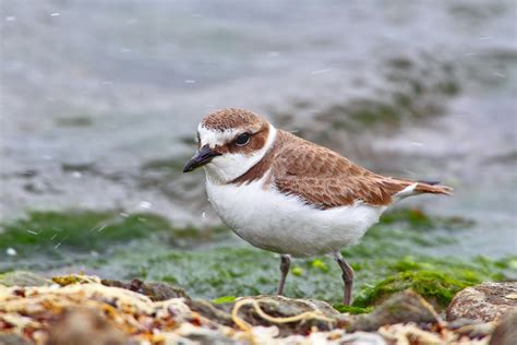
<svg viewBox="0 0 517 345">
<path fill-rule="evenodd" d="M 71 311 L 62 317 L 65 310 Z M 68 344 L 70 338 L 74 342 L 69 344 L 103 344 L 105 341 L 127 344 L 119 342 L 113 326 L 130 341 L 154 344 L 169 333 L 175 336 L 173 330 L 189 322 L 197 326 L 212 325 L 192 313 L 183 298 L 155 302 L 129 289 L 98 283 L 38 287 L 0 285 L 0 332 L 9 330 L 38 344 L 45 343 L 41 334 L 50 332 L 55 334 L 48 344 Z M 95 338 L 93 333 L 97 331 L 99 335 Z M 82 341 L 84 333 L 92 333 L 89 342 L 87 338 Z"/>
</svg>

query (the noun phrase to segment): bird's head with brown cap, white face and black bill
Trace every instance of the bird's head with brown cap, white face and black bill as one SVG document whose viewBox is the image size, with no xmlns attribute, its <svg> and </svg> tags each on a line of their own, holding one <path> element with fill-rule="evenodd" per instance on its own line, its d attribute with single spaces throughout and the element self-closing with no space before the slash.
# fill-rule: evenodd
<svg viewBox="0 0 517 345">
<path fill-rule="evenodd" d="M 197 153 L 183 172 L 204 167 L 212 182 L 227 183 L 258 163 L 275 136 L 275 128 L 249 110 L 227 108 L 211 112 L 197 126 Z"/>
</svg>

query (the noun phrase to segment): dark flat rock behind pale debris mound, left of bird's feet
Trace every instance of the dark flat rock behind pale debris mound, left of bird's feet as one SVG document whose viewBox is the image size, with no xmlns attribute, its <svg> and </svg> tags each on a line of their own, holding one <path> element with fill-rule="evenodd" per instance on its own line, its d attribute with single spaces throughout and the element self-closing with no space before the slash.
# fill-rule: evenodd
<svg viewBox="0 0 517 345">
<path fill-rule="evenodd" d="M 101 279 L 105 286 L 115 286 L 125 288 L 151 298 L 153 301 L 167 300 L 171 298 L 190 299 L 189 295 L 179 287 L 175 287 L 165 283 L 144 283 L 141 279 L 133 279 L 129 283 L 120 281 Z"/>
</svg>

